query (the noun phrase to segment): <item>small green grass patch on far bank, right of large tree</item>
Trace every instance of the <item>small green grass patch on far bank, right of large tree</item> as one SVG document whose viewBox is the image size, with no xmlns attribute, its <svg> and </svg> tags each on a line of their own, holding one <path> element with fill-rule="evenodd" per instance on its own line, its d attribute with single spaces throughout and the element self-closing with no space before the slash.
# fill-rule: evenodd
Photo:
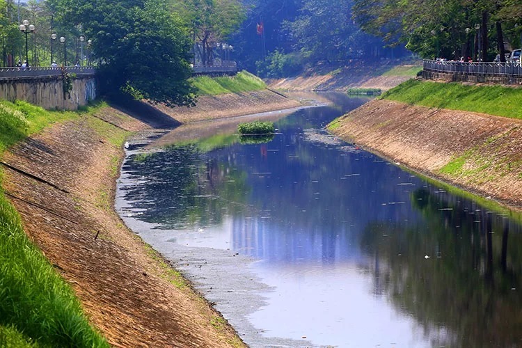
<svg viewBox="0 0 522 348">
<path fill-rule="evenodd" d="M 267 87 L 262 79 L 245 70 L 232 77 L 194 77 L 191 83 L 198 88 L 198 93 L 201 95 L 242 93 Z"/>
</svg>

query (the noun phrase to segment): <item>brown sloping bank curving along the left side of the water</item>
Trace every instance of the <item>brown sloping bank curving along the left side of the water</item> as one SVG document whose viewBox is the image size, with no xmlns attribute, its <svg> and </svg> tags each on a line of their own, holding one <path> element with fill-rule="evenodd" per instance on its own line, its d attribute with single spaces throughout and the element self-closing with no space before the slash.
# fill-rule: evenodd
<svg viewBox="0 0 522 348">
<path fill-rule="evenodd" d="M 299 105 L 278 93 L 258 94 L 236 99 L 244 113 L 257 111 L 260 99 L 273 109 Z M 193 119 L 209 116 L 204 105 L 191 109 Z M 173 118 L 176 110 L 170 111 Z M 125 138 L 164 132 L 153 125 L 164 125 L 165 115 L 134 116 L 104 106 L 15 145 L 3 157 L 8 165 L 3 189 L 26 234 L 73 287 L 111 345 L 243 347 L 223 317 L 113 210 Z"/>
</svg>

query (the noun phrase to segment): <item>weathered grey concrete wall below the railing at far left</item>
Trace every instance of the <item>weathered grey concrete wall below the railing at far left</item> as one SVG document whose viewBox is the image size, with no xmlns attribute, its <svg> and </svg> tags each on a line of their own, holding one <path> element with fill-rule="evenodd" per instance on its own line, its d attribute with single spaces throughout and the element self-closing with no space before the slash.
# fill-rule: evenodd
<svg viewBox="0 0 522 348">
<path fill-rule="evenodd" d="M 70 98 L 63 97 L 61 78 L 0 81 L 0 99 L 25 100 L 44 109 L 76 110 L 96 97 L 97 86 L 93 76 L 73 79 Z"/>
</svg>

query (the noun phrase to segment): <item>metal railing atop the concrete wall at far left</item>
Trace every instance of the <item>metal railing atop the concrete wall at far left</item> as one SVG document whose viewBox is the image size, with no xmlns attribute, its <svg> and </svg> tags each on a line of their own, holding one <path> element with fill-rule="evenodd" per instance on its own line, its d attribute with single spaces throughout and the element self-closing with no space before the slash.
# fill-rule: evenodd
<svg viewBox="0 0 522 348">
<path fill-rule="evenodd" d="M 93 76 L 96 68 L 89 67 L 65 67 L 65 71 L 69 74 L 77 74 L 78 76 Z M 42 79 L 47 77 L 58 77 L 62 74 L 61 67 L 44 67 L 44 68 L 0 68 L 0 80 L 17 80 L 17 79 Z"/>
</svg>

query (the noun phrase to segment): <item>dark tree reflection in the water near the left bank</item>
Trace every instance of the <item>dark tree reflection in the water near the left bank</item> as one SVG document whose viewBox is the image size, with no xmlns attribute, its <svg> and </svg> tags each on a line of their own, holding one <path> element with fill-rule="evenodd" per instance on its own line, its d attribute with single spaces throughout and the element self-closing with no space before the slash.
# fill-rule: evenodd
<svg viewBox="0 0 522 348">
<path fill-rule="evenodd" d="M 123 171 L 134 181 L 122 189 L 125 200 L 139 201 L 140 219 L 161 229 L 219 224 L 223 209 L 234 209 L 229 202 L 242 202 L 248 191 L 244 173 L 207 158 L 195 144 L 134 155 Z"/>
</svg>

